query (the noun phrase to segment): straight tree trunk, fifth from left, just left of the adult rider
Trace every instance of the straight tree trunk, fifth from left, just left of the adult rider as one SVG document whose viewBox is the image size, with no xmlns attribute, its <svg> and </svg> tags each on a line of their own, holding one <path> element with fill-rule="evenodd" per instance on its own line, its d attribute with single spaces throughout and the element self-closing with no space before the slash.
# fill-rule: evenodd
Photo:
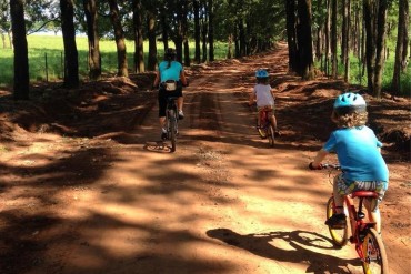
<svg viewBox="0 0 411 274">
<path fill-rule="evenodd" d="M 133 0 L 133 28 L 134 28 L 134 72 L 144 72 L 144 49 L 142 37 L 142 9 L 141 0 Z"/>
</svg>

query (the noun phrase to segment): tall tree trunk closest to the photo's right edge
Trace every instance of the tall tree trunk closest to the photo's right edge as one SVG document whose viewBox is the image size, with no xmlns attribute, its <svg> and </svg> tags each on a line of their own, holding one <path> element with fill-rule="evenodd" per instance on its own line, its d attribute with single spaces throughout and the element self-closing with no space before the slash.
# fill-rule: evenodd
<svg viewBox="0 0 411 274">
<path fill-rule="evenodd" d="M 408 51 L 408 24 L 409 24 L 409 1 L 399 0 L 398 32 L 395 47 L 394 73 L 392 77 L 392 89 L 400 93 L 401 71 L 407 68 Z"/>
</svg>

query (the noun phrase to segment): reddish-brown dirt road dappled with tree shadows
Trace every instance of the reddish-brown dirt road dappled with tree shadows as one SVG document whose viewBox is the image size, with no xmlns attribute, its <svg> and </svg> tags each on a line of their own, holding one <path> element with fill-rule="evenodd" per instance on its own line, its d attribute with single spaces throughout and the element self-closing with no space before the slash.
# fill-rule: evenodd
<svg viewBox="0 0 411 274">
<path fill-rule="evenodd" d="M 362 273 L 353 246 L 334 248 L 323 225 L 328 174 L 307 170 L 321 141 L 297 143 L 279 114 L 284 135 L 269 149 L 245 106 L 254 69 L 285 75 L 284 53 L 192 74 L 176 153 L 158 141 L 157 106 L 129 133 L 83 141 L 39 136 L 39 151 L 53 151 L 61 161 L 70 156 L 71 169 L 88 165 L 79 164 L 72 177 L 62 170 L 58 191 L 34 176 L 20 193 L 8 193 L 30 192 L 32 206 L 44 207 L 31 220 L 41 226 L 24 231 L 21 224 L 18 244 L 9 236 L 0 242 L 1 273 Z M 278 108 L 298 100 L 279 93 Z M 405 165 L 390 164 L 392 185 L 408 180 Z M 70 183 L 76 176 L 82 184 Z M 37 193 L 34 183 L 42 183 Z M 36 200 L 44 193 L 49 200 Z M 409 199 L 397 201 L 394 193 L 381 210 L 390 273 L 402 274 L 411 270 L 410 226 L 391 225 L 399 212 L 390 206 L 407 209 Z M 11 215 L 19 206 L 10 199 L 0 212 Z M 19 250 L 29 261 L 10 255 Z"/>
</svg>

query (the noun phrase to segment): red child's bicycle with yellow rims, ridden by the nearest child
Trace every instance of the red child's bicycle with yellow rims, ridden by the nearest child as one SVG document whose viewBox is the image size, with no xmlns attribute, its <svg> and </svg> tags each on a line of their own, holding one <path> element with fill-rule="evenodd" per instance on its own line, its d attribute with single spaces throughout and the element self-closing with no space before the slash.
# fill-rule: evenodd
<svg viewBox="0 0 411 274">
<path fill-rule="evenodd" d="M 310 165 L 310 169 L 312 166 Z M 339 164 L 322 164 L 319 169 L 341 170 Z M 331 172 L 330 172 L 331 175 Z M 331 182 L 331 181 L 330 181 Z M 354 199 L 358 199 L 355 207 Z M 362 262 L 362 270 L 367 274 L 389 273 L 388 258 L 381 235 L 373 229 L 375 223 L 365 222 L 363 210 L 364 199 L 377 199 L 378 194 L 373 191 L 355 191 L 344 196 L 344 213 L 349 217 L 351 236 L 349 237 L 348 224 L 344 227 L 329 226 L 330 235 L 337 246 L 344 246 L 348 241 L 355 245 L 357 254 Z M 327 219 L 335 213 L 334 197 L 327 202 Z"/>
</svg>

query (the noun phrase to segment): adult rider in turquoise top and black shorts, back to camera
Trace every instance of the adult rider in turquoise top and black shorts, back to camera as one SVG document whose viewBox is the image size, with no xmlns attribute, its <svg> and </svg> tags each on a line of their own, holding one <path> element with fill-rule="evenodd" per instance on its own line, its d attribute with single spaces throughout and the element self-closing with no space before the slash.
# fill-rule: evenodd
<svg viewBox="0 0 411 274">
<path fill-rule="evenodd" d="M 167 89 L 167 84 L 174 83 L 176 89 Z M 159 121 L 161 126 L 161 139 L 167 138 L 167 129 L 164 128 L 166 123 L 166 106 L 167 98 L 177 97 L 177 108 L 179 109 L 179 119 L 184 118 L 182 112 L 183 105 L 183 95 L 182 87 L 188 85 L 188 80 L 186 78 L 184 69 L 182 64 L 176 61 L 176 50 L 168 48 L 164 51 L 164 60 L 160 62 L 156 80 L 153 83 L 154 87 L 159 87 Z"/>
</svg>

